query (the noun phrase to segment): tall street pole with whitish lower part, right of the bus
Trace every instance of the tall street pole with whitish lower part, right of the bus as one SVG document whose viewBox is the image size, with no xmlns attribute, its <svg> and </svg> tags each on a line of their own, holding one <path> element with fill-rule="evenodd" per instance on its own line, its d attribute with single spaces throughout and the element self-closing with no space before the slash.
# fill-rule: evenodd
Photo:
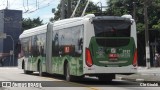
<svg viewBox="0 0 160 90">
<path fill-rule="evenodd" d="M 150 48 L 149 48 L 149 34 L 148 34 L 148 0 L 144 1 L 144 22 L 145 22 L 145 43 L 146 43 L 146 67 L 150 68 Z"/>
</svg>

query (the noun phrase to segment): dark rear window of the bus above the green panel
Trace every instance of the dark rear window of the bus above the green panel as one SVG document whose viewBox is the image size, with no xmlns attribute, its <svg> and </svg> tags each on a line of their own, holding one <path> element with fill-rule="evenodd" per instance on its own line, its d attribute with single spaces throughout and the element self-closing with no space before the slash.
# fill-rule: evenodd
<svg viewBox="0 0 160 90">
<path fill-rule="evenodd" d="M 131 22 L 124 20 L 93 20 L 96 37 L 130 37 Z"/>
</svg>

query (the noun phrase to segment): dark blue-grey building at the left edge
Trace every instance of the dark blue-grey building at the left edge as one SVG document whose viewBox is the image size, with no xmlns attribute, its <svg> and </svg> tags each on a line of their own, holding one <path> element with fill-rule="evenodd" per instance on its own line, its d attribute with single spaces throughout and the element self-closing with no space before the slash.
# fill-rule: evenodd
<svg viewBox="0 0 160 90">
<path fill-rule="evenodd" d="M 4 66 L 16 66 L 18 56 L 18 38 L 22 33 L 22 11 L 0 10 L 0 32 L 6 33 L 6 39 L 0 39 L 0 59 Z M 13 59 L 13 40 L 15 55 Z"/>
</svg>

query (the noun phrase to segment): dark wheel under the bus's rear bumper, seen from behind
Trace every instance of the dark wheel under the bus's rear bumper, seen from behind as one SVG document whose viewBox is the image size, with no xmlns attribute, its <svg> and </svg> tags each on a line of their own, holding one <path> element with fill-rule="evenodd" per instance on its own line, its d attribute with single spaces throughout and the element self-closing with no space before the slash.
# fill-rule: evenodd
<svg viewBox="0 0 160 90">
<path fill-rule="evenodd" d="M 100 75 L 98 76 L 98 79 L 100 81 L 112 81 L 112 79 L 115 79 L 115 74 L 107 74 L 107 75 Z"/>
</svg>

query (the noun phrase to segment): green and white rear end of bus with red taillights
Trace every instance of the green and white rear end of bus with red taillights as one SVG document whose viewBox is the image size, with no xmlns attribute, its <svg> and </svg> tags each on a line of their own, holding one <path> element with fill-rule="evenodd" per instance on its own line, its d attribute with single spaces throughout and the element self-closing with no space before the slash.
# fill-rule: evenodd
<svg viewBox="0 0 160 90">
<path fill-rule="evenodd" d="M 99 16 L 94 17 L 91 23 L 94 35 L 87 38 L 89 44 L 85 48 L 84 73 L 98 76 L 101 80 L 111 80 L 115 74 L 136 73 L 137 39 L 134 20 Z"/>
</svg>

